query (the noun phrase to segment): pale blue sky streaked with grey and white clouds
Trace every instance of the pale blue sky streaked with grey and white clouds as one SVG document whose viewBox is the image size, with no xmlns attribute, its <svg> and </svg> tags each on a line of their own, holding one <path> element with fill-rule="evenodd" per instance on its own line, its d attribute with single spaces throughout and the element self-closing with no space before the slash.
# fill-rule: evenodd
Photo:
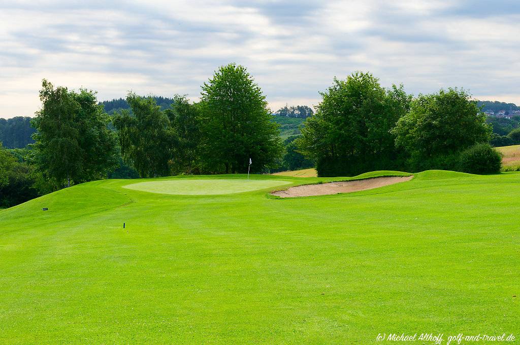
<svg viewBox="0 0 520 345">
<path fill-rule="evenodd" d="M 34 116 L 43 78 L 99 100 L 186 94 L 248 68 L 271 109 L 317 105 L 370 72 L 409 93 L 463 87 L 520 103 L 517 0 L 0 0 L 0 117 Z"/>
</svg>

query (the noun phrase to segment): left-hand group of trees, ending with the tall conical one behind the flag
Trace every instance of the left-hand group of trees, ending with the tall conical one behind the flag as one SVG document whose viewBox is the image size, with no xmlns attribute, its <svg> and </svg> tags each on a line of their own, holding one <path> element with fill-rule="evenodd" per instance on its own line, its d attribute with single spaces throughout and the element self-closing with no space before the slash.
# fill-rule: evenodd
<svg viewBox="0 0 520 345">
<path fill-rule="evenodd" d="M 3 150 L 10 158 L 0 171 L 7 176 L 15 166 L 27 168 L 30 188 L 38 194 L 106 178 L 114 169 L 137 177 L 246 173 L 251 159 L 251 172 L 262 173 L 283 157 L 266 97 L 237 64 L 218 68 L 202 85 L 197 103 L 176 95 L 165 107 L 157 98 L 129 92 L 129 109 L 109 116 L 95 91 L 55 87 L 47 80 L 40 100 L 32 119 L 35 143 L 20 159 Z M 2 188 L 9 185 L 14 180 L 4 178 Z"/>
</svg>

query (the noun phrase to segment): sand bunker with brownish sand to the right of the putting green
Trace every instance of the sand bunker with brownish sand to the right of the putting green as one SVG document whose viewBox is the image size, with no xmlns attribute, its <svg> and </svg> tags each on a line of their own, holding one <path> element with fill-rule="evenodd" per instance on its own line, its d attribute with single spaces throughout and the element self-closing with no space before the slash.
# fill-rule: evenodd
<svg viewBox="0 0 520 345">
<path fill-rule="evenodd" d="M 274 191 L 271 194 L 281 198 L 291 198 L 348 193 L 353 191 L 374 189 L 383 186 L 393 185 L 399 182 L 410 181 L 412 177 L 413 176 L 374 177 L 366 178 L 365 180 L 329 182 L 317 185 L 303 185 L 291 187 L 285 190 Z"/>
</svg>

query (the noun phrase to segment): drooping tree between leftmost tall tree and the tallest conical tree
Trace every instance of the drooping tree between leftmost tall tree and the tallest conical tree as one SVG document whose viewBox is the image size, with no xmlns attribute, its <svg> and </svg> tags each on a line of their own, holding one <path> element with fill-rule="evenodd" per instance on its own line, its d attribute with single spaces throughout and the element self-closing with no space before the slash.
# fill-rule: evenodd
<svg viewBox="0 0 520 345">
<path fill-rule="evenodd" d="M 169 175 L 172 147 L 177 140 L 170 119 L 152 98 L 129 92 L 126 102 L 132 114 L 123 110 L 113 119 L 124 162 L 134 167 L 140 177 Z"/>
</svg>

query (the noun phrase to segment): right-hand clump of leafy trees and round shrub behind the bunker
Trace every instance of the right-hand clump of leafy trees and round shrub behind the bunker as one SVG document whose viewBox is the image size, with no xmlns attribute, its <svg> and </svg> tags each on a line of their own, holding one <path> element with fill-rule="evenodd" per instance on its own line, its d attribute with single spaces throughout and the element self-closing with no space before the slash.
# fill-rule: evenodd
<svg viewBox="0 0 520 345">
<path fill-rule="evenodd" d="M 463 89 L 407 94 L 385 89 L 369 73 L 334 79 L 305 121 L 297 145 L 316 162 L 318 176 L 373 170 L 428 169 L 497 173 L 501 156 L 488 143 L 491 127 Z"/>
</svg>

